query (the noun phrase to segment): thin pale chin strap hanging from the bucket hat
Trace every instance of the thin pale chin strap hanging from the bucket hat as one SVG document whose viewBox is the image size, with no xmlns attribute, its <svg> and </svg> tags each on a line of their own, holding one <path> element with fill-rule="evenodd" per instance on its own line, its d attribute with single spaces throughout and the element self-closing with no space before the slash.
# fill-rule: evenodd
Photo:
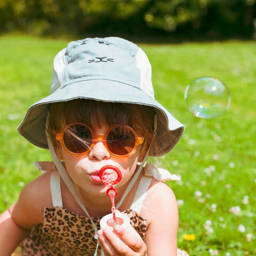
<svg viewBox="0 0 256 256">
<path fill-rule="evenodd" d="M 62 180 L 64 181 L 64 183 L 66 184 L 66 186 L 68 187 L 69 191 L 71 192 L 71 194 L 73 195 L 74 199 L 76 200 L 76 202 L 78 203 L 78 205 L 83 209 L 83 211 L 85 212 L 85 214 L 88 216 L 88 218 L 91 220 L 92 222 L 92 225 L 93 225 L 93 228 L 94 228 L 94 231 L 95 231 L 95 235 L 94 235 L 94 238 L 95 239 L 98 239 L 98 235 L 97 235 L 97 232 L 98 232 L 98 229 L 95 225 L 95 223 L 93 222 L 93 220 L 91 219 L 84 203 L 82 202 L 81 198 L 79 197 L 78 195 L 78 192 L 73 184 L 73 181 L 71 180 L 71 178 L 69 177 L 66 169 L 64 168 L 64 166 L 62 165 L 60 159 L 57 157 L 56 155 L 56 152 L 55 152 L 55 149 L 52 145 L 52 142 L 50 140 L 50 136 L 49 136 L 49 133 L 48 133 L 48 124 L 49 124 L 49 112 L 48 112 L 48 115 L 47 115 L 47 121 L 46 121 L 46 130 L 45 130 L 45 133 L 46 133 L 46 138 L 47 138 L 47 142 L 48 142 L 48 146 L 49 146 L 49 151 L 50 151 L 50 154 L 51 154 L 51 157 L 52 157 L 52 160 L 57 168 L 57 170 L 59 171 L 60 175 L 61 175 L 61 178 Z M 154 123 L 154 131 L 156 131 L 156 117 L 155 117 L 155 123 Z M 139 169 L 136 171 L 134 177 L 132 178 L 132 180 L 130 181 L 126 191 L 124 192 L 123 196 L 122 196 L 122 199 L 120 200 L 120 202 L 117 204 L 116 208 L 120 207 L 124 198 L 126 197 L 126 195 L 130 192 L 130 190 L 132 189 L 132 187 L 134 186 L 134 183 L 136 182 L 136 180 L 138 179 L 143 167 L 144 167 L 144 164 L 146 162 L 146 158 L 149 154 L 149 149 L 147 150 L 146 152 L 146 155 L 143 159 L 143 161 L 141 162 L 140 164 L 140 167 Z M 96 247 L 96 251 L 95 251 L 95 254 L 94 256 L 97 256 L 97 250 L 98 250 L 98 242 L 97 242 L 97 247 Z M 104 255 L 101 253 L 101 255 Z"/>
</svg>

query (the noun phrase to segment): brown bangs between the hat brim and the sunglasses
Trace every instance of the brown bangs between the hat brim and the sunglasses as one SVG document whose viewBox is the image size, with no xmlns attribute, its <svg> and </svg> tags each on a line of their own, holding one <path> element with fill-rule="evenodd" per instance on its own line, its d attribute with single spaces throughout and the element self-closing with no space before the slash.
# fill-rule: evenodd
<svg viewBox="0 0 256 256">
<path fill-rule="evenodd" d="M 73 122 L 81 122 L 91 128 L 94 125 L 101 128 L 104 124 L 124 124 L 134 128 L 129 104 L 96 100 L 76 99 L 53 103 L 50 106 L 50 120 L 55 124 L 50 126 L 56 132 L 61 132 L 66 125 Z"/>
</svg>

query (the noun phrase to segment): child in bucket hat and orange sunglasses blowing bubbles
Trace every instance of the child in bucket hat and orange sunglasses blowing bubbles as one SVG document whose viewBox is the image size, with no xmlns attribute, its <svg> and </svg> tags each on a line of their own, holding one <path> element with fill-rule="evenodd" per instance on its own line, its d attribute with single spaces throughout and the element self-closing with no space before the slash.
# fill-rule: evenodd
<svg viewBox="0 0 256 256">
<path fill-rule="evenodd" d="M 154 99 L 142 49 L 118 37 L 69 43 L 54 59 L 50 95 L 28 109 L 18 131 L 49 148 L 54 163 L 36 163 L 46 172 L 1 215 L 1 256 L 18 245 L 24 256 L 177 255 L 176 199 L 161 182 L 176 176 L 145 162 L 168 153 L 183 125 Z M 106 165 L 122 173 L 113 187 L 129 232 L 99 227 L 111 212 L 98 175 Z"/>
</svg>

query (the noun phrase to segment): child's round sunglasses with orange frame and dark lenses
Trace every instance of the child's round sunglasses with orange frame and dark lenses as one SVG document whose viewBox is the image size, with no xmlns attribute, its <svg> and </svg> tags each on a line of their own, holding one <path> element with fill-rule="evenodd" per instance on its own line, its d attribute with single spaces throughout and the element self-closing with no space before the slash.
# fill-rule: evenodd
<svg viewBox="0 0 256 256">
<path fill-rule="evenodd" d="M 56 134 L 63 148 L 72 155 L 83 155 L 92 150 L 97 141 L 102 141 L 110 154 L 118 157 L 131 155 L 142 144 L 144 137 L 139 137 L 127 125 L 115 125 L 106 134 L 95 134 L 83 123 L 71 123 L 60 134 Z"/>
</svg>

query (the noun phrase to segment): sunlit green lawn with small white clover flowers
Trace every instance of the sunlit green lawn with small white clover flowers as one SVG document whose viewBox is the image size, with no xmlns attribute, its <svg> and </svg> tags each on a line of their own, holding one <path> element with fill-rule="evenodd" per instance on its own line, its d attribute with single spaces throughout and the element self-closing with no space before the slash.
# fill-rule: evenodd
<svg viewBox="0 0 256 256">
<path fill-rule="evenodd" d="M 50 160 L 47 150 L 30 145 L 16 128 L 27 108 L 49 94 L 53 58 L 66 44 L 64 40 L 0 38 L 0 211 L 39 175 L 33 161 Z M 183 200 L 178 246 L 191 256 L 207 256 L 212 250 L 223 256 L 255 256 L 256 42 L 141 47 L 152 64 L 156 98 L 185 125 L 179 144 L 158 159 L 182 176 L 182 182 L 168 182 L 177 200 Z M 202 76 L 219 78 L 232 95 L 230 108 L 210 120 L 196 118 L 184 101 L 186 86 Z M 195 191 L 202 192 L 200 198 Z M 245 195 L 249 197 L 246 204 Z M 235 206 L 241 208 L 240 214 L 230 213 Z M 211 221 L 208 231 L 207 220 Z M 245 232 L 238 231 L 240 224 Z M 246 239 L 248 233 L 253 234 L 251 242 Z M 195 234 L 195 240 L 187 241 L 183 234 Z"/>
</svg>

